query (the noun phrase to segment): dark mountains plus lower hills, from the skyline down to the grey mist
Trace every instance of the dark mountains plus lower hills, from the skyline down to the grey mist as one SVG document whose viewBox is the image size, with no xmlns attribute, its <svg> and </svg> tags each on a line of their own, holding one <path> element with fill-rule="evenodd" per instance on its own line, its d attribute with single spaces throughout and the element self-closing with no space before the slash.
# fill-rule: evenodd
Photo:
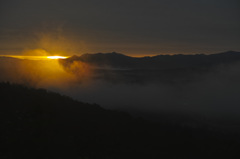
<svg viewBox="0 0 240 159">
<path fill-rule="evenodd" d="M 188 83 L 221 66 L 240 62 L 240 52 L 204 55 L 157 55 L 130 57 L 119 53 L 97 53 L 60 60 L 63 68 L 82 79 L 79 70 L 94 72 L 93 78 L 123 83 Z M 79 64 L 79 65 L 77 65 Z M 80 72 L 80 73 L 79 73 Z"/>
</svg>

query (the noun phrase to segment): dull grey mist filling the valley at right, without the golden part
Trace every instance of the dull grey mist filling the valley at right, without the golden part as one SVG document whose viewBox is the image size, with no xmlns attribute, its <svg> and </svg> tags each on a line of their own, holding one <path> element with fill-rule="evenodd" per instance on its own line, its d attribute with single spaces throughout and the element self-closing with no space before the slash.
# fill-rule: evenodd
<svg viewBox="0 0 240 159">
<path fill-rule="evenodd" d="M 239 115 L 240 63 L 216 67 L 189 83 L 109 83 L 56 89 L 75 99 L 110 109 L 178 112 L 202 115 Z"/>
</svg>

